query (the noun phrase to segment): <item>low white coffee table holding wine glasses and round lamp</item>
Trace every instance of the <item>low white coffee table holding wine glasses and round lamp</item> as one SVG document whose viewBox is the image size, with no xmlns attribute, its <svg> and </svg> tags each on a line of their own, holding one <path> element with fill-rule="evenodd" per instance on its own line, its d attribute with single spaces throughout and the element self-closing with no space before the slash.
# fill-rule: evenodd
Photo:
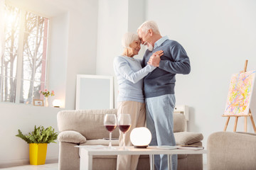
<svg viewBox="0 0 256 170">
<path fill-rule="evenodd" d="M 171 155 L 172 154 L 207 154 L 205 149 L 203 150 L 191 150 L 191 149 L 138 149 L 134 147 L 127 147 L 126 150 L 121 147 L 114 147 L 114 149 L 108 149 L 106 146 L 91 145 L 91 146 L 76 146 L 79 147 L 80 153 L 80 170 L 92 170 L 92 156 L 100 155 L 118 155 L 118 154 L 146 154 L 150 156 L 150 169 L 154 170 L 154 154 L 167 154 L 168 156 L 168 168 L 171 169 Z"/>
</svg>

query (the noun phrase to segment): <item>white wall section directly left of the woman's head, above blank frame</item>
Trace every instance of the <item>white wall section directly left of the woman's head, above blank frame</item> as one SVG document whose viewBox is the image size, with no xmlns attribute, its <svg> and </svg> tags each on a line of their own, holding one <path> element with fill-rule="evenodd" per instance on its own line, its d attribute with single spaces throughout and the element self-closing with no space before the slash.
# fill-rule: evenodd
<svg viewBox="0 0 256 170">
<path fill-rule="evenodd" d="M 114 57 L 123 52 L 122 35 L 128 30 L 128 0 L 99 0 L 97 75 L 113 75 Z"/>
</svg>

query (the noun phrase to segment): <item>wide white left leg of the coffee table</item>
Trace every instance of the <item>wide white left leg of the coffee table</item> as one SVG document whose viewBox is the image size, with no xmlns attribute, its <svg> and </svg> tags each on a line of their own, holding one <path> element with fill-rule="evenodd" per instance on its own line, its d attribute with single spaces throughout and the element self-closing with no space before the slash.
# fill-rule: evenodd
<svg viewBox="0 0 256 170">
<path fill-rule="evenodd" d="M 88 155 L 85 149 L 80 149 L 80 170 L 92 170 L 92 155 Z"/>
</svg>

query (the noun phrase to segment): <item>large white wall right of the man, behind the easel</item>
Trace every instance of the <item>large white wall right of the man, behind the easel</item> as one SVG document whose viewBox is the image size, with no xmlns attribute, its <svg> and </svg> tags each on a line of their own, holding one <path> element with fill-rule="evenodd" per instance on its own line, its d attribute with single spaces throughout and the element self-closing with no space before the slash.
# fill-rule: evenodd
<svg viewBox="0 0 256 170">
<path fill-rule="evenodd" d="M 256 1 L 148 0 L 146 19 L 159 24 L 162 35 L 183 45 L 191 73 L 176 76 L 176 103 L 190 107 L 188 130 L 202 132 L 203 145 L 212 132 L 223 131 L 231 74 L 256 69 Z M 255 89 L 256 91 L 256 89 Z M 256 98 L 252 115 L 256 120 Z M 230 118 L 228 131 L 233 131 Z M 237 131 L 244 131 L 240 118 Z M 254 132 L 250 119 L 248 132 Z"/>
</svg>

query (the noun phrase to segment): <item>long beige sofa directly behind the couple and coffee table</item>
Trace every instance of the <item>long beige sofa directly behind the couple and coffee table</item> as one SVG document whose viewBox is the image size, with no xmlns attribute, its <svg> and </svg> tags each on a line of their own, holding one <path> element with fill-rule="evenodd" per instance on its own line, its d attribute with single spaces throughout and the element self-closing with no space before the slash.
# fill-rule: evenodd
<svg viewBox="0 0 256 170">
<path fill-rule="evenodd" d="M 57 115 L 58 140 L 60 142 L 59 170 L 78 170 L 80 157 L 77 145 L 108 145 L 109 132 L 103 125 L 106 113 L 117 114 L 116 109 L 60 111 Z M 184 132 L 186 120 L 183 114 L 174 113 L 174 136 L 177 145 L 202 145 L 203 135 Z M 119 137 L 118 128 L 112 132 L 113 138 Z M 112 145 L 118 145 L 114 140 Z M 92 167 L 99 170 L 116 169 L 116 156 L 93 157 Z M 139 157 L 137 169 L 149 169 L 149 156 Z M 178 169 L 203 169 L 201 154 L 178 155 Z"/>
</svg>

